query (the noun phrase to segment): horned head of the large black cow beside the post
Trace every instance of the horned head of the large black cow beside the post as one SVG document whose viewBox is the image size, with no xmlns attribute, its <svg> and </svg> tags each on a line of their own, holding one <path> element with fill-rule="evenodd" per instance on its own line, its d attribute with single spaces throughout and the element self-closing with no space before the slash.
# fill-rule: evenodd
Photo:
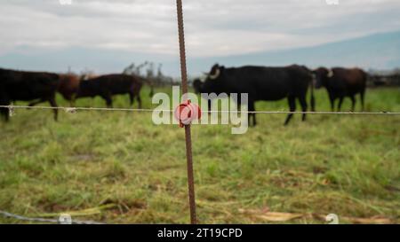
<svg viewBox="0 0 400 242">
<path fill-rule="evenodd" d="M 224 92 L 224 72 L 225 67 L 215 64 L 202 86 L 202 92 L 204 93 L 217 93 L 220 94 Z"/>
</svg>

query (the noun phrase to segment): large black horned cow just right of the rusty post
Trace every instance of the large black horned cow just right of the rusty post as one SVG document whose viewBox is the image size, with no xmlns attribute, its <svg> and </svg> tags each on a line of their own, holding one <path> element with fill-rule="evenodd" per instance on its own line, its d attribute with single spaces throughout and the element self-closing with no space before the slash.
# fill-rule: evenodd
<svg viewBox="0 0 400 242">
<path fill-rule="evenodd" d="M 312 85 L 312 74 L 305 66 L 243 66 L 237 68 L 226 68 L 218 64 L 212 66 L 206 81 L 202 85 L 204 93 L 248 93 L 248 111 L 254 112 L 256 101 L 275 101 L 288 98 L 290 111 L 296 110 L 296 98 L 299 99 L 303 112 L 307 111 L 306 101 L 308 86 Z M 311 93 L 311 106 L 314 110 L 314 93 Z M 240 104 L 239 104 L 240 105 Z M 252 124 L 257 124 L 255 113 L 251 113 Z M 284 125 L 292 119 L 290 113 Z M 302 120 L 306 120 L 303 113 Z"/>
</svg>

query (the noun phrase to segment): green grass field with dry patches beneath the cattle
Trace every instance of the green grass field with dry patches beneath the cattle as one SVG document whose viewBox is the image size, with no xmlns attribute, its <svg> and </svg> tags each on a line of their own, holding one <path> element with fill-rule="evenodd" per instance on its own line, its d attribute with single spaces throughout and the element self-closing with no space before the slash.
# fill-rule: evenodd
<svg viewBox="0 0 400 242">
<path fill-rule="evenodd" d="M 142 96 L 151 107 L 148 90 Z M 329 110 L 324 90 L 316 100 L 318 111 Z M 127 104 L 116 98 L 115 106 Z M 349 107 L 347 99 L 343 110 Z M 368 90 L 366 109 L 400 112 L 399 90 Z M 199 222 L 321 223 L 332 213 L 343 223 L 400 222 L 400 116 L 301 122 L 295 115 L 288 127 L 284 118 L 259 114 L 256 128 L 236 136 L 228 126 L 193 127 Z M 0 210 L 108 223 L 189 221 L 184 130 L 154 125 L 151 113 L 60 112 L 54 122 L 51 111 L 19 109 L 0 130 Z"/>
</svg>

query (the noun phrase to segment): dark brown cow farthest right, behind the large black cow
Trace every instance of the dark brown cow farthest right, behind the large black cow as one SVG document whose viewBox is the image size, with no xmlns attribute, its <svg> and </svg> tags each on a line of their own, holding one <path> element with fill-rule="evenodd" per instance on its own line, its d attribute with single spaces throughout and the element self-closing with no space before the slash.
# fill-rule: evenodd
<svg viewBox="0 0 400 242">
<path fill-rule="evenodd" d="M 316 75 L 316 89 L 326 88 L 331 101 L 331 109 L 334 111 L 335 100 L 339 98 L 338 111 L 345 97 L 351 98 L 351 111 L 356 106 L 356 94 L 360 94 L 362 110 L 364 111 L 364 95 L 367 74 L 358 68 L 332 68 L 319 67 L 313 72 Z"/>
</svg>

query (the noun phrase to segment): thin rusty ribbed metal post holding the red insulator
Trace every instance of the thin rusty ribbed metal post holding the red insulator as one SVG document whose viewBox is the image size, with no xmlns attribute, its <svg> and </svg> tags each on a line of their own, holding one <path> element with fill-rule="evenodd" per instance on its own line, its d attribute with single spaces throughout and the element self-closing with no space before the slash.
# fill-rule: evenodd
<svg viewBox="0 0 400 242">
<path fill-rule="evenodd" d="M 182 0 L 176 0 L 176 5 L 178 13 L 178 31 L 180 38 L 180 73 L 182 78 L 182 94 L 184 95 L 188 93 L 188 73 L 186 67 L 185 32 L 183 27 Z M 185 126 L 185 137 L 186 158 L 188 162 L 188 199 L 190 207 L 190 222 L 192 224 L 196 224 L 195 178 L 193 176 L 192 138 L 190 125 Z"/>
</svg>

